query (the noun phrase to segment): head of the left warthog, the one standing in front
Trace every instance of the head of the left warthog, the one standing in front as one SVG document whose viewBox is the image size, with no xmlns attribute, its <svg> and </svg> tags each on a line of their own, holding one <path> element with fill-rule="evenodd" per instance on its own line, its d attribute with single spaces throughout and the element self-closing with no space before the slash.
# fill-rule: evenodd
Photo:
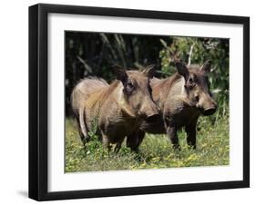
<svg viewBox="0 0 256 205">
<path fill-rule="evenodd" d="M 128 107 L 138 117 L 153 120 L 159 114 L 156 104 L 152 100 L 149 80 L 153 77 L 153 67 L 142 72 L 116 68 L 117 79 L 123 84 L 123 96 Z"/>
</svg>

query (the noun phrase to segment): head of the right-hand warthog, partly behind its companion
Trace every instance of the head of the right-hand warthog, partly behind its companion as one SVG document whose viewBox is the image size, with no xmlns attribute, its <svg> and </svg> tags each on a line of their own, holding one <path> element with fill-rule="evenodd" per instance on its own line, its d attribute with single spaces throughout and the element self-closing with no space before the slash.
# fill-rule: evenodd
<svg viewBox="0 0 256 205">
<path fill-rule="evenodd" d="M 203 115 L 211 115 L 217 110 L 217 103 L 212 99 L 207 74 L 210 72 L 210 61 L 203 65 L 186 66 L 176 62 L 178 73 L 185 79 L 185 91 L 191 106 L 200 110 Z"/>
</svg>

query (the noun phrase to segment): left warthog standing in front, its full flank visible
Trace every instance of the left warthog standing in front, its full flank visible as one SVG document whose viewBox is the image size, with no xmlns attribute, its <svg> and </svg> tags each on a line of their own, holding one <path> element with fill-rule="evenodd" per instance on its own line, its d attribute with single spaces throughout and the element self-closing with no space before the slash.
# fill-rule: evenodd
<svg viewBox="0 0 256 205">
<path fill-rule="evenodd" d="M 82 142 L 89 140 L 88 132 L 96 129 L 103 144 L 117 143 L 118 151 L 124 138 L 138 129 L 142 119 L 159 114 L 152 100 L 149 79 L 153 69 L 143 72 L 115 69 L 117 80 L 108 84 L 102 79 L 86 78 L 71 94 L 78 131 Z"/>
</svg>

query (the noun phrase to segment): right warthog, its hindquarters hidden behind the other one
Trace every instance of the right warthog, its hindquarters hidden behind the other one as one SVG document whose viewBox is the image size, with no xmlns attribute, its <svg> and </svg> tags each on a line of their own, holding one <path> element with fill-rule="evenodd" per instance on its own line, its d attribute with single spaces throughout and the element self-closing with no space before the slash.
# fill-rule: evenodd
<svg viewBox="0 0 256 205">
<path fill-rule="evenodd" d="M 142 122 L 140 129 L 128 135 L 127 145 L 138 151 L 145 132 L 167 133 L 174 148 L 179 148 L 177 131 L 185 127 L 188 144 L 196 148 L 196 126 L 200 114 L 210 115 L 217 109 L 211 97 L 207 73 L 210 61 L 203 65 L 189 65 L 177 61 L 178 73 L 169 78 L 151 80 L 153 100 L 159 108 L 154 122 Z"/>
</svg>

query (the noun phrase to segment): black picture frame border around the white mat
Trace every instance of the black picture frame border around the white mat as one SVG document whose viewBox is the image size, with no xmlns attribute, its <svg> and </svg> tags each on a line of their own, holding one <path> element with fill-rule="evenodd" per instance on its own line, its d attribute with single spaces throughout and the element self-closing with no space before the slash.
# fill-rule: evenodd
<svg viewBox="0 0 256 205">
<path fill-rule="evenodd" d="M 243 180 L 101 190 L 47 190 L 47 16 L 50 13 L 166 19 L 243 26 Z M 29 198 L 66 200 L 250 187 L 250 18 L 76 5 L 29 7 Z"/>
</svg>

